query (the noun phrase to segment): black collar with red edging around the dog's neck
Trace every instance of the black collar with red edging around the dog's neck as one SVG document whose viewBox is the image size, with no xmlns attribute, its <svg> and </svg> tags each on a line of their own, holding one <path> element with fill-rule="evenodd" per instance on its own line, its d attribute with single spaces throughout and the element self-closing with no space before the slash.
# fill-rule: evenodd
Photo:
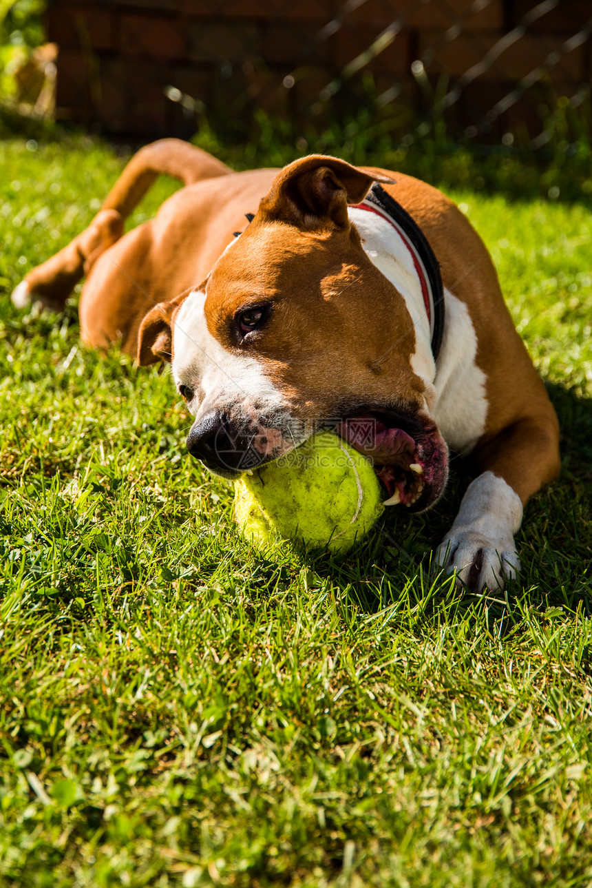
<svg viewBox="0 0 592 888">
<path fill-rule="evenodd" d="M 423 305 L 430 321 L 431 352 L 436 361 L 444 333 L 444 289 L 438 260 L 427 238 L 407 210 L 404 210 L 400 203 L 395 201 L 391 194 L 387 194 L 377 182 L 370 188 L 364 200 L 352 209 L 368 210 L 386 219 L 396 229 L 409 250 L 422 285 Z"/>
</svg>

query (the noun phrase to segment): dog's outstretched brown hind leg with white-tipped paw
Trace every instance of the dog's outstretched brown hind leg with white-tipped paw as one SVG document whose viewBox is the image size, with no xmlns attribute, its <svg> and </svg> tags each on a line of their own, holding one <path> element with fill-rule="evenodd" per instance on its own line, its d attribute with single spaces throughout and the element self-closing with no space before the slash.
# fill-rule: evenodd
<svg viewBox="0 0 592 888">
<path fill-rule="evenodd" d="M 160 139 L 140 148 L 107 194 L 91 225 L 67 247 L 29 272 L 13 290 L 13 304 L 24 308 L 36 298 L 51 308 L 63 307 L 75 284 L 89 273 L 101 253 L 122 236 L 125 218 L 159 175 L 192 185 L 230 172 L 230 167 L 216 157 L 180 139 Z"/>
</svg>

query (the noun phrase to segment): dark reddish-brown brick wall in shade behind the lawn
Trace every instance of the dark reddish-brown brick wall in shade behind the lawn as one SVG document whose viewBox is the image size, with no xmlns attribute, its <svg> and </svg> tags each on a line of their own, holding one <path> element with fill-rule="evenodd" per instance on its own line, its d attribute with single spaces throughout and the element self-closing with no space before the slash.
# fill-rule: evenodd
<svg viewBox="0 0 592 888">
<path fill-rule="evenodd" d="M 565 41 L 592 15 L 590 0 L 561 0 L 497 52 L 501 36 L 536 5 L 537 0 L 366 0 L 357 8 L 351 0 L 53 0 L 47 28 L 48 39 L 59 44 L 57 114 L 112 134 L 187 135 L 195 130 L 194 116 L 167 98 L 168 87 L 201 100 L 217 115 L 245 115 L 260 105 L 305 116 L 320 113 L 323 100 L 347 97 L 359 73 L 340 83 L 340 72 L 359 67 L 373 75 L 385 100 L 399 93 L 399 101 L 419 110 L 429 107 L 436 84 L 450 89 L 460 79 L 454 115 L 466 127 L 537 68 L 543 68 L 537 89 L 544 83 L 572 96 L 590 82 L 589 36 L 565 51 Z M 351 12 L 343 14 L 348 7 Z M 383 51 L 359 59 L 377 38 Z M 492 52 L 493 62 L 463 83 Z M 353 59 L 359 61 L 351 66 Z M 422 78 L 412 74 L 417 59 L 423 62 Z M 528 101 L 504 111 L 497 129 L 528 121 L 539 95 L 528 92 Z"/>
</svg>

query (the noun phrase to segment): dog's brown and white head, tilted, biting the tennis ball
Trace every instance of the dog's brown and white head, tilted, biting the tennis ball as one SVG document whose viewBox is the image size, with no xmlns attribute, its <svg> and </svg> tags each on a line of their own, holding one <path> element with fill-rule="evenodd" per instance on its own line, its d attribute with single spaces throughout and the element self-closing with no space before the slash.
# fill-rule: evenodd
<svg viewBox="0 0 592 888">
<path fill-rule="evenodd" d="M 172 354 L 195 416 L 187 448 L 212 472 L 234 477 L 331 426 L 373 458 L 392 502 L 419 511 L 444 488 L 414 323 L 348 215 L 375 180 L 391 181 L 322 155 L 291 163 L 207 281 L 146 315 L 139 360 Z"/>
</svg>

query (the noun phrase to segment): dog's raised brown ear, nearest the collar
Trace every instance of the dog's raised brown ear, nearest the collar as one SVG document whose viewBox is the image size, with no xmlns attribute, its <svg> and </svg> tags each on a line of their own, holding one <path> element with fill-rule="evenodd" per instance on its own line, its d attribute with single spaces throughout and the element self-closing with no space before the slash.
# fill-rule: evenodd
<svg viewBox="0 0 592 888">
<path fill-rule="evenodd" d="M 281 170 L 259 209 L 268 218 L 299 227 L 317 228 L 329 222 L 349 228 L 348 204 L 362 201 L 373 182 L 392 183 L 393 179 L 336 157 L 311 155 Z"/>
</svg>

